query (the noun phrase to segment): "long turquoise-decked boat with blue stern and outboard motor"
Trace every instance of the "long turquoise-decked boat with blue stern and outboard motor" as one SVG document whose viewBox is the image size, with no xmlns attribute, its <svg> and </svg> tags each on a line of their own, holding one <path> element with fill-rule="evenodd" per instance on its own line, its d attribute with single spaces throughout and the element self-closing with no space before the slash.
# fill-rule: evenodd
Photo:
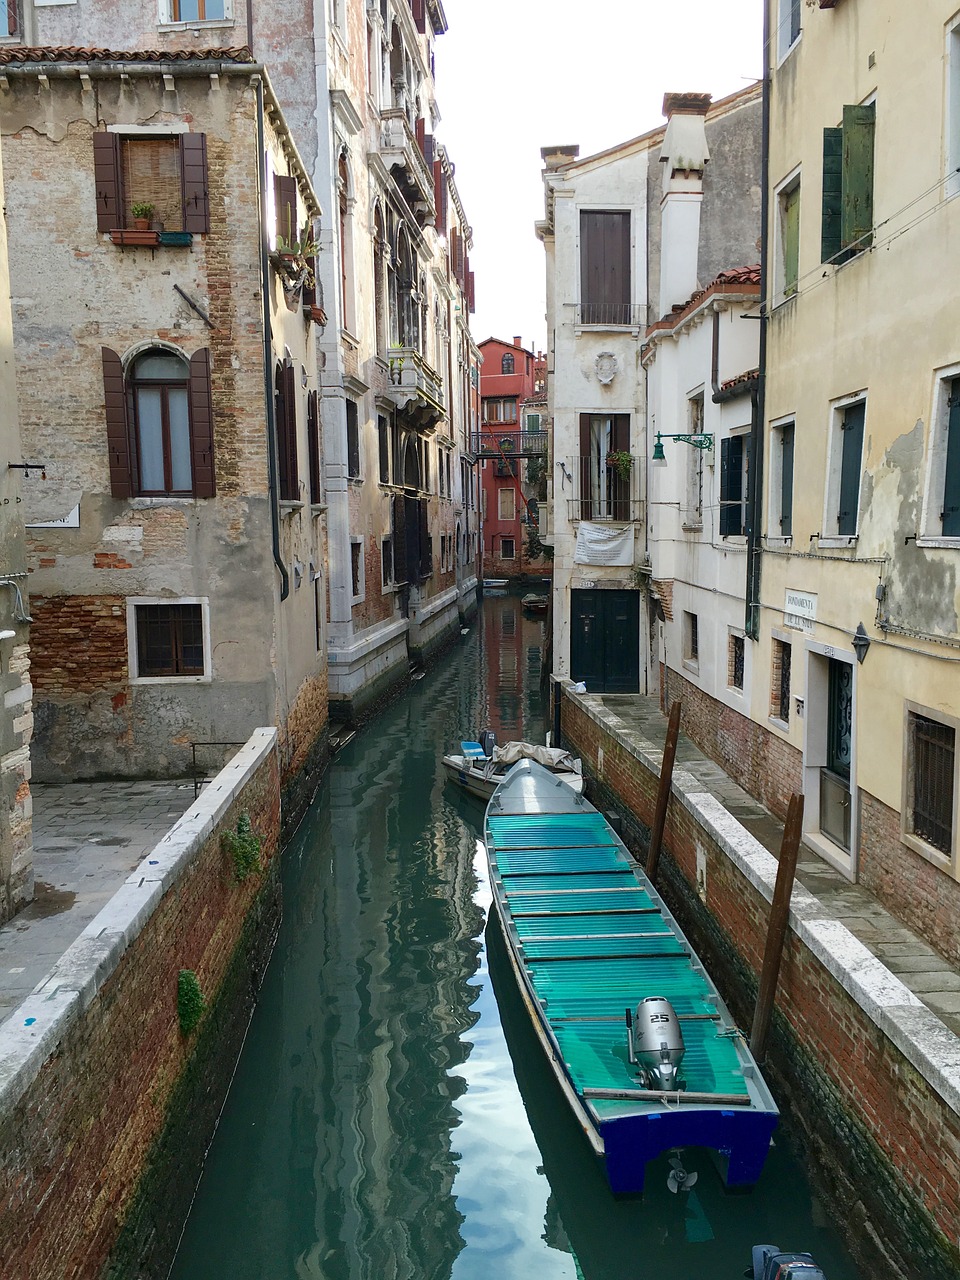
<svg viewBox="0 0 960 1280">
<path fill-rule="evenodd" d="M 719 1153 L 763 1169 L 778 1110 L 717 988 L 611 824 L 532 760 L 486 809 L 493 904 L 524 1002 L 611 1188 L 648 1161 Z"/>
</svg>

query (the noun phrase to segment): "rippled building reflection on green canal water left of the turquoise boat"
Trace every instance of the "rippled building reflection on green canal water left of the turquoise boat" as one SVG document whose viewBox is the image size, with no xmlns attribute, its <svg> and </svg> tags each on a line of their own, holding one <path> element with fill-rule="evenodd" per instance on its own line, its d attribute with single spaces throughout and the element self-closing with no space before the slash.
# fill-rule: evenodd
<svg viewBox="0 0 960 1280">
<path fill-rule="evenodd" d="M 436 686 L 415 694 L 364 735 L 356 768 L 348 748 L 332 771 L 323 956 L 300 992 L 321 1001 L 302 1073 L 316 1094 L 303 1117 L 315 1139 L 303 1280 L 442 1277 L 463 1248 L 451 1135 L 483 922 L 474 841 L 440 800 L 425 723 L 443 699 Z"/>
</svg>

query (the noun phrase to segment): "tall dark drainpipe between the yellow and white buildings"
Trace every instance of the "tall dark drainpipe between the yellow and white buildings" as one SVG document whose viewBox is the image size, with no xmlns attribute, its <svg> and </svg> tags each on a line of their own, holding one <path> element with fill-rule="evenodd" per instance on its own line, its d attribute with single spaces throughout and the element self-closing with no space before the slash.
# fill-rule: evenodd
<svg viewBox="0 0 960 1280">
<path fill-rule="evenodd" d="M 767 275 L 769 259 L 771 0 L 763 5 L 763 106 L 760 116 L 760 349 L 756 390 L 750 399 L 750 475 L 748 477 L 746 609 L 744 630 L 760 637 L 760 529 L 763 524 L 763 422 L 767 390 Z"/>
</svg>

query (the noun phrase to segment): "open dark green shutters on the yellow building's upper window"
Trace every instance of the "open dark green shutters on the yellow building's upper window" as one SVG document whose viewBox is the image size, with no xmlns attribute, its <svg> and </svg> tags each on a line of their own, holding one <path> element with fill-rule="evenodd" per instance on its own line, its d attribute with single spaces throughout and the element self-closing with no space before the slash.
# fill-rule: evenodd
<svg viewBox="0 0 960 1280">
<path fill-rule="evenodd" d="M 820 260 L 845 262 L 873 243 L 873 150 L 877 110 L 845 106 L 838 129 L 823 131 Z"/>
</svg>

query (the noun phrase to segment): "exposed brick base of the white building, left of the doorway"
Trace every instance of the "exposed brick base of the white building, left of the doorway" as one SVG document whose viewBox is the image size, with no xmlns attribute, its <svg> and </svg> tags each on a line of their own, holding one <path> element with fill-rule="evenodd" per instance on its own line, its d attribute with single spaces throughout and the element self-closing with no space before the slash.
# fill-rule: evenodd
<svg viewBox="0 0 960 1280">
<path fill-rule="evenodd" d="M 660 663 L 660 690 L 681 700 L 684 732 L 740 786 L 777 817 L 785 818 L 790 797 L 803 791 L 803 754 L 782 737 L 710 698 L 672 667 Z M 660 694 L 663 698 L 663 692 Z"/>
</svg>

